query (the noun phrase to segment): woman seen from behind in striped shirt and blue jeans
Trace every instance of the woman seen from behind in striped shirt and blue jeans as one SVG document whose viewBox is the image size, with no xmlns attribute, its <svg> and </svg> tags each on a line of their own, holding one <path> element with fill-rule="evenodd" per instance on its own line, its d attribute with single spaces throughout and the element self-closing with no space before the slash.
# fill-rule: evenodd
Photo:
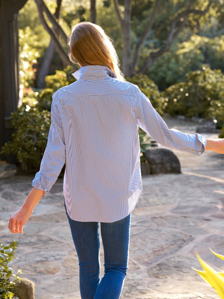
<svg viewBox="0 0 224 299">
<path fill-rule="evenodd" d="M 65 163 L 65 210 L 79 257 L 82 299 L 119 298 L 128 268 L 131 212 L 142 192 L 138 126 L 165 147 L 198 157 L 224 153 L 224 139 L 168 129 L 148 98 L 124 80 L 102 28 L 82 22 L 70 36 L 76 82 L 53 95 L 51 126 L 40 171 L 9 229 L 23 233 L 33 208 Z M 206 145 L 207 144 L 207 145 Z M 105 274 L 99 283 L 99 222 Z"/>
</svg>

